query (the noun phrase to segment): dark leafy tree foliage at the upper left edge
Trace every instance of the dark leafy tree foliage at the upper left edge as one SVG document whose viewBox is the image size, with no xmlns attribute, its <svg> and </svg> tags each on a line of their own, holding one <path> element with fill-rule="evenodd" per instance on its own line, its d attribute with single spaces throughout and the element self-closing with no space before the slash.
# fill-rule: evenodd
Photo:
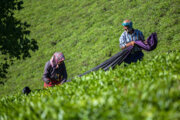
<svg viewBox="0 0 180 120">
<path fill-rule="evenodd" d="M 38 49 L 37 42 L 27 37 L 30 25 L 14 17 L 14 11 L 21 10 L 22 4 L 18 0 L 0 1 L 0 78 L 6 77 L 7 68 L 14 58 L 25 59 L 30 57 L 30 50 Z"/>
</svg>

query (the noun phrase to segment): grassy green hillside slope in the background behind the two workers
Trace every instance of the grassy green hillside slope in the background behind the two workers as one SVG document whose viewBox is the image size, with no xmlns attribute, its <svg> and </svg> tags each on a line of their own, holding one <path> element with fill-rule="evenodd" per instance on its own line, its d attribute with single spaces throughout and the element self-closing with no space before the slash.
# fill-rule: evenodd
<svg viewBox="0 0 180 120">
<path fill-rule="evenodd" d="M 131 19 L 146 38 L 157 32 L 158 47 L 145 53 L 145 60 L 179 49 L 179 5 L 179 0 L 24 0 L 24 9 L 15 15 L 31 24 L 29 37 L 37 40 L 39 50 L 10 67 L 0 95 L 25 86 L 42 88 L 44 65 L 55 51 L 64 53 L 69 78 L 101 63 L 120 51 L 124 19 Z"/>
</svg>

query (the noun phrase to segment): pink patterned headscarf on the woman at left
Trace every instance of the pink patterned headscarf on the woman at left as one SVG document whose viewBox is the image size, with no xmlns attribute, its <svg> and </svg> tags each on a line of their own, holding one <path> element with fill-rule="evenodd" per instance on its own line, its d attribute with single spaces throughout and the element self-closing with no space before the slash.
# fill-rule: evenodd
<svg viewBox="0 0 180 120">
<path fill-rule="evenodd" d="M 52 67 L 55 67 L 58 62 L 64 61 L 65 57 L 61 52 L 55 52 L 54 55 L 51 57 L 50 63 Z"/>
</svg>

